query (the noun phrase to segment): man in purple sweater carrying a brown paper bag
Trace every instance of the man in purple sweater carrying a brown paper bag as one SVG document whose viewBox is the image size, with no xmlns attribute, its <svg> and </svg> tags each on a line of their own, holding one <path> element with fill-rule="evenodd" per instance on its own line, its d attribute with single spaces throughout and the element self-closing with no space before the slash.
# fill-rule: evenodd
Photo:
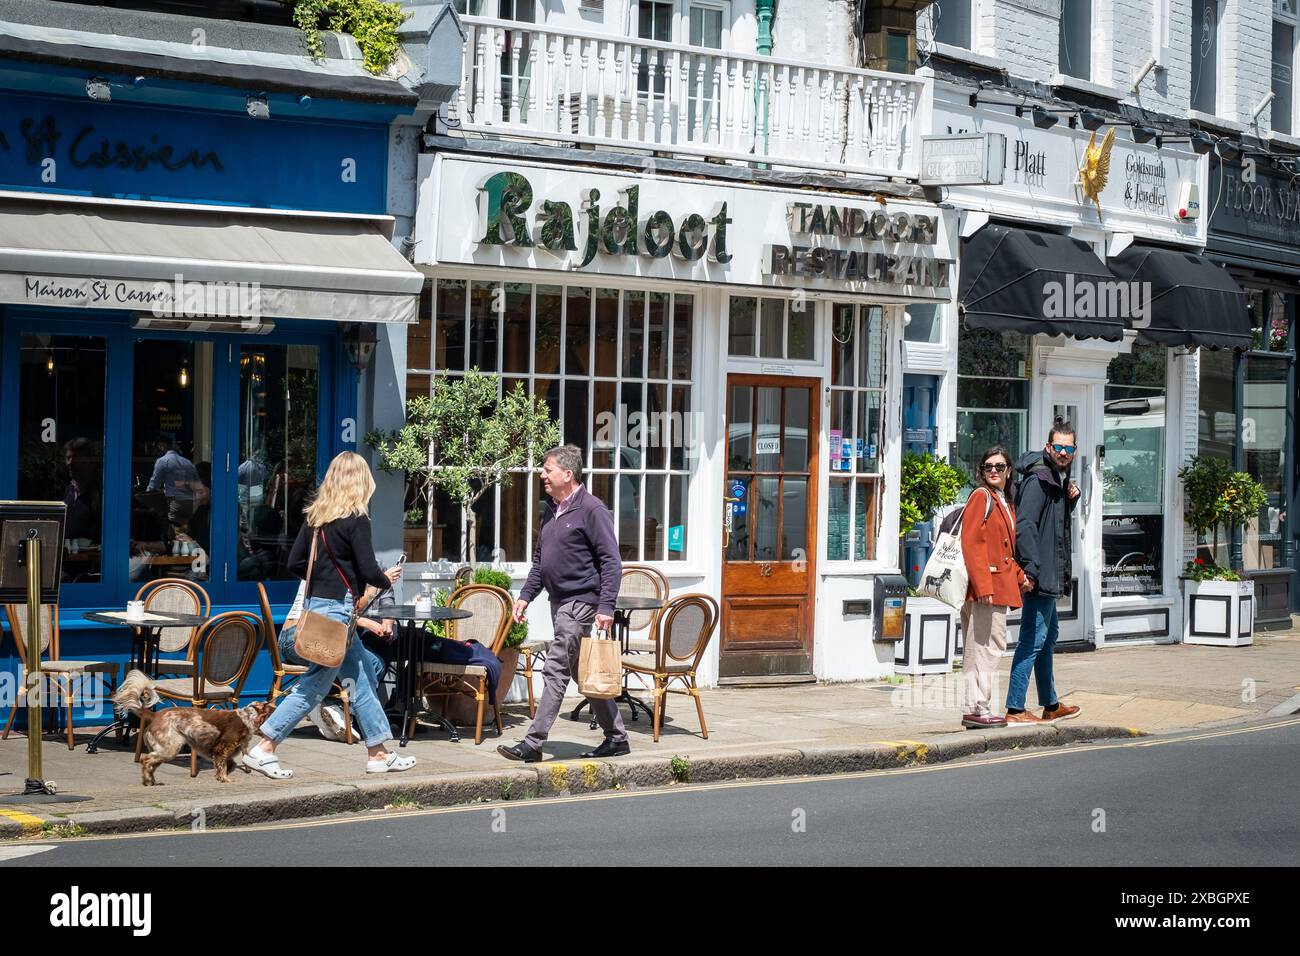
<svg viewBox="0 0 1300 956">
<path fill-rule="evenodd" d="M 545 687 L 533 726 L 523 741 L 497 748 L 503 757 L 525 763 L 542 758 L 542 744 L 560 713 L 569 679 L 576 676 L 582 635 L 593 623 L 597 631 L 607 631 L 614 623 L 614 600 L 619 596 L 623 575 L 614 515 L 578 483 L 581 471 L 582 451 L 573 445 L 551 449 L 542 459 L 542 489 L 554 503 L 542 516 L 533 570 L 515 601 L 515 620 L 523 620 L 529 602 L 546 588 L 555 628 L 542 669 Z M 604 741 L 582 756 L 630 753 L 618 705 L 612 700 L 594 700 L 592 713 L 604 731 Z"/>
</svg>

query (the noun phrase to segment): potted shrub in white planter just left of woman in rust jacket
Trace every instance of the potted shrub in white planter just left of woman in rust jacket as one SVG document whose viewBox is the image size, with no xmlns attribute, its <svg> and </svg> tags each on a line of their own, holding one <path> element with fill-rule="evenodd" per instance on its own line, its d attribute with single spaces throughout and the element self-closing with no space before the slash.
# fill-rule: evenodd
<svg viewBox="0 0 1300 956">
<path fill-rule="evenodd" d="M 909 451 L 902 458 L 898 502 L 900 563 L 902 538 L 935 512 L 953 505 L 966 476 L 937 455 Z M 957 611 L 916 592 L 920 568 L 909 575 L 904 639 L 894 645 L 900 674 L 950 674 L 957 650 Z"/>
</svg>

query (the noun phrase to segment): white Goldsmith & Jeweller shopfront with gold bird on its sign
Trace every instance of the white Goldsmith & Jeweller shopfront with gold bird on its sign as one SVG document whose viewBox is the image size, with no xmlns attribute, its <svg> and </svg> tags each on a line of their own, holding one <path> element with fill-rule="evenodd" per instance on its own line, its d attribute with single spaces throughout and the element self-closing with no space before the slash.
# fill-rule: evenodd
<svg viewBox="0 0 1300 956">
<path fill-rule="evenodd" d="M 1204 203 L 1206 164 L 1186 140 L 1136 143 L 1127 125 L 1098 129 L 1093 139 L 1082 126 L 1072 129 L 1066 113 L 1041 129 L 1028 107 L 1019 117 L 1015 103 L 985 103 L 997 99 L 993 92 L 982 92 L 972 107 L 971 92 L 937 85 L 931 133 L 1000 134 L 1006 166 L 1001 185 L 944 190 L 944 203 L 961 211 L 967 251 L 959 269 L 967 268 L 971 237 L 985 228 L 1079 239 L 1098 263 L 1145 246 L 1204 247 L 1206 217 L 1197 215 L 1197 203 Z M 1100 147 L 1106 129 L 1114 129 L 1109 181 L 1095 200 L 1084 194 L 1079 170 L 1089 142 Z M 961 280 L 963 290 L 967 278 Z M 1096 290 L 1084 295 L 1084 285 L 1067 284 L 1060 295 L 1041 298 L 1039 317 L 1057 329 L 1075 319 L 1118 323 L 1118 341 L 1041 334 L 1028 321 L 996 328 L 970 313 L 959 328 L 953 306 L 932 341 L 907 336 L 915 341 L 905 342 L 905 369 L 941 377 L 940 450 L 954 450 L 967 470 L 988 445 L 1005 445 L 1013 455 L 1041 449 L 1057 415 L 1075 424 L 1074 479 L 1083 496 L 1074 593 L 1060 605 L 1061 641 L 1098 648 L 1174 641 L 1180 632 L 1179 574 L 1191 548 L 1176 471 L 1196 454 L 1197 356 L 1187 347 L 1139 339 L 1152 316 L 1157 324 L 1176 321 L 1141 284 L 1121 290 L 1122 300 L 1093 297 Z"/>
</svg>

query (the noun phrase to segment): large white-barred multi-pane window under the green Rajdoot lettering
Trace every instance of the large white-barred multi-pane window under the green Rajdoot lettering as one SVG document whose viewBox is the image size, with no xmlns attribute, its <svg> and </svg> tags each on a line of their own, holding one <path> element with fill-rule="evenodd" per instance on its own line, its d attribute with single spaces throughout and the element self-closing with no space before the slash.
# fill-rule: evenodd
<svg viewBox="0 0 1300 956">
<path fill-rule="evenodd" d="M 469 367 L 491 371 L 482 363 L 494 362 L 500 342 L 502 388 L 520 384 L 545 402 L 563 441 L 584 450 L 582 480 L 615 515 L 623 558 L 684 559 L 696 437 L 694 297 L 438 280 L 433 302 L 434 367 L 410 368 L 408 382 L 417 380 L 428 394 L 438 375 L 462 373 L 458 342 L 468 342 Z M 538 464 L 480 499 L 478 561 L 530 558 L 545 503 Z M 408 488 L 407 536 L 417 545 L 422 537 L 434 561 L 459 561 L 462 515 L 441 493 L 433 498 L 425 507 Z"/>
</svg>

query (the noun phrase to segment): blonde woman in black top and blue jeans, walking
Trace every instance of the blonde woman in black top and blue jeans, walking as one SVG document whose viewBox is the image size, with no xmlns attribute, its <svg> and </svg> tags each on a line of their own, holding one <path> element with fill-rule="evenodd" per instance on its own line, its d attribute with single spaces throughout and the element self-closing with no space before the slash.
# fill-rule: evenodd
<svg viewBox="0 0 1300 956">
<path fill-rule="evenodd" d="M 374 558 L 368 514 L 373 494 L 374 479 L 364 458 L 344 451 L 330 462 L 316 501 L 306 510 L 307 520 L 289 555 L 289 570 L 299 578 L 304 576 L 315 537 L 316 562 L 312 580 L 308 581 L 311 597 L 307 600 L 307 610 L 348 623 L 352 620 L 354 594 L 364 593 L 367 584 L 387 588 L 402 576 L 400 567 L 384 571 Z M 369 757 L 367 773 L 382 774 L 413 767 L 415 757 L 399 757 L 385 747 L 391 728 L 380 706 L 373 676 L 365 665 L 361 641 L 355 630 L 348 635 L 347 654 L 342 665 L 312 665 L 298 679 L 292 692 L 261 724 L 265 739 L 244 756 L 244 765 L 278 780 L 292 777 L 292 770 L 280 765 L 276 747 L 325 698 L 335 679 L 356 688 L 352 713 L 365 737 Z"/>
</svg>

